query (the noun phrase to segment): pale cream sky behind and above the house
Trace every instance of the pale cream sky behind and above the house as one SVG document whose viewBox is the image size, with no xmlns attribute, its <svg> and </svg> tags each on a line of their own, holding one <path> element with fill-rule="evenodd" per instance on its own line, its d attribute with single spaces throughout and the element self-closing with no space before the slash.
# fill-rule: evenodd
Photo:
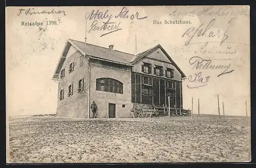
<svg viewBox="0 0 256 168">
<path fill-rule="evenodd" d="M 29 9 L 30 12 L 44 10 L 65 12 L 26 15 Z M 126 13 L 128 18 L 121 17 L 124 14 L 121 11 L 125 9 L 126 12 L 128 11 Z M 93 10 L 94 13 L 99 10 L 103 14 L 106 12 L 109 16 L 112 15 L 110 22 L 120 23 L 118 28 L 121 30 L 105 36 L 101 35 L 110 31 L 90 31 L 95 20 L 98 26 L 108 21 L 108 18 L 97 17 L 86 21 L 86 16 Z M 122 14 L 119 15 L 120 12 Z M 225 16 L 220 16 L 222 14 Z M 137 19 L 137 17 L 145 18 Z M 154 24 L 154 20 L 155 23 L 161 21 L 161 24 Z M 191 23 L 165 24 L 165 20 Z M 42 22 L 43 25 L 25 25 L 35 21 Z M 46 25 L 47 21 L 53 25 Z M 219 95 L 221 114 L 223 114 L 223 102 L 225 115 L 245 116 L 246 101 L 249 116 L 249 24 L 248 6 L 215 6 L 208 9 L 204 6 L 8 7 L 6 9 L 7 114 L 9 116 L 55 114 L 58 83 L 52 80 L 52 76 L 65 42 L 67 39 L 84 41 L 87 34 L 88 43 L 103 47 L 112 44 L 114 49 L 132 54 L 136 53 L 136 48 L 137 53 L 140 53 L 160 44 L 187 77 L 183 81 L 185 109 L 191 109 L 193 97 L 193 113 L 198 113 L 199 99 L 201 114 L 218 115 L 217 95 Z M 190 38 L 189 44 L 185 45 Z M 224 42 L 221 43 L 223 38 Z M 226 66 L 226 72 L 231 72 L 218 77 L 225 68 L 196 69 L 200 58 L 210 59 L 211 65 Z M 198 76 L 199 74 L 201 76 Z M 199 87 L 202 85 L 205 86 Z"/>
</svg>

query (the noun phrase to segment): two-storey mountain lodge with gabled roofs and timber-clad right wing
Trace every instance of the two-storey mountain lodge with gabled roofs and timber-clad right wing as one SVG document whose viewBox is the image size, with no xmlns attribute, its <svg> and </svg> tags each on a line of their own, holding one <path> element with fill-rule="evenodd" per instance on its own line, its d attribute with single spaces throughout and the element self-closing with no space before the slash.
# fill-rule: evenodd
<svg viewBox="0 0 256 168">
<path fill-rule="evenodd" d="M 58 80 L 57 116 L 129 118 L 131 109 L 182 108 L 185 74 L 157 45 L 137 55 L 69 39 L 52 77 Z"/>
</svg>

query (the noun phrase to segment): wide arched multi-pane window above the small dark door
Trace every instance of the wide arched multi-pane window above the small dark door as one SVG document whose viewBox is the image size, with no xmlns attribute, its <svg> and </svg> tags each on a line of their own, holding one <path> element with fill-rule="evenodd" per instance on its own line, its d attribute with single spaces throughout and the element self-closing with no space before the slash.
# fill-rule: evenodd
<svg viewBox="0 0 256 168">
<path fill-rule="evenodd" d="M 123 83 L 112 78 L 96 79 L 96 90 L 123 94 Z"/>
</svg>

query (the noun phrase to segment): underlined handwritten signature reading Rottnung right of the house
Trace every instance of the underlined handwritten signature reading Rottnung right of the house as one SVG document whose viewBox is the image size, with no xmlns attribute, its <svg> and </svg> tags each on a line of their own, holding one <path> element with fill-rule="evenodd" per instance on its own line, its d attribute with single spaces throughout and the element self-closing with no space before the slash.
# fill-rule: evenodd
<svg viewBox="0 0 256 168">
<path fill-rule="evenodd" d="M 231 63 L 229 63 L 228 65 L 214 65 L 212 64 L 212 60 L 204 60 L 202 59 L 201 57 L 191 57 L 190 60 L 189 60 L 189 64 L 190 65 L 194 65 L 194 68 L 196 69 L 210 69 L 210 70 L 219 70 L 219 69 L 224 69 L 223 72 L 221 72 L 219 76 L 221 75 L 224 75 L 224 74 L 227 74 L 227 73 L 231 73 L 233 72 L 234 70 L 229 70 L 227 71 L 230 66 L 231 66 Z"/>
</svg>

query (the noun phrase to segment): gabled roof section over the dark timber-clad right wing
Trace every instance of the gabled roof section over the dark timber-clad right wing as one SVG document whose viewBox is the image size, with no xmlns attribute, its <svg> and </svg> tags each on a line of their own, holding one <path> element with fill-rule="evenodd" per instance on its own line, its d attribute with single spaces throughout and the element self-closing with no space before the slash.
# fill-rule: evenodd
<svg viewBox="0 0 256 168">
<path fill-rule="evenodd" d="M 138 55 L 136 55 L 136 57 L 130 62 L 131 64 L 135 64 L 136 62 L 138 62 L 139 60 L 141 60 L 142 58 L 146 57 L 147 55 L 151 54 L 152 52 L 156 51 L 158 48 L 160 48 L 163 53 L 166 55 L 166 57 L 169 59 L 169 61 L 175 66 L 175 68 L 177 68 L 177 70 L 181 73 L 181 77 L 184 78 L 186 77 L 186 75 L 181 71 L 181 69 L 178 67 L 178 65 L 173 61 L 172 58 L 170 58 L 170 56 L 168 55 L 168 53 L 163 49 L 163 47 L 158 44 L 157 46 L 150 48 L 142 53 L 139 53 Z"/>
</svg>

